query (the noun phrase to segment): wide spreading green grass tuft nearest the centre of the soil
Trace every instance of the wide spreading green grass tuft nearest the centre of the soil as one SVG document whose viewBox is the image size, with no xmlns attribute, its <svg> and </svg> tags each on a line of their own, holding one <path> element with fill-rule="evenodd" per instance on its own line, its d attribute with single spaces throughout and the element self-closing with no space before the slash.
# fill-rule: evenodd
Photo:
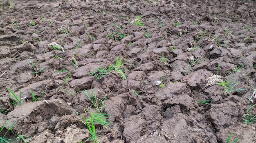
<svg viewBox="0 0 256 143">
<path fill-rule="evenodd" d="M 117 74 L 119 77 L 121 77 L 123 80 L 126 80 L 127 75 L 125 74 L 125 68 L 124 65 L 124 58 L 121 58 L 120 56 L 117 56 L 115 59 L 115 62 L 110 64 L 109 66 L 100 67 L 95 72 L 89 74 L 89 76 L 95 76 L 98 80 L 104 76 L 107 76 L 109 74 Z"/>
</svg>

